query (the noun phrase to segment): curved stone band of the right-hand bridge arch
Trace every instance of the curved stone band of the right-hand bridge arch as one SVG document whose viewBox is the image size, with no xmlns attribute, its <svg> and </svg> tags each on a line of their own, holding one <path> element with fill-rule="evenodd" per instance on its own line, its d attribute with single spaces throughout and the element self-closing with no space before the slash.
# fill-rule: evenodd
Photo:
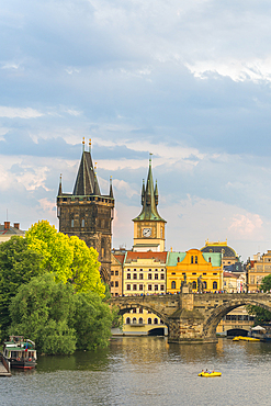
<svg viewBox="0 0 271 406">
<path fill-rule="evenodd" d="M 261 303 L 260 301 L 253 300 L 253 298 L 241 298 L 238 301 L 229 301 L 224 303 L 221 306 L 217 306 L 214 308 L 214 311 L 210 314 L 210 316 L 206 318 L 206 320 L 203 324 L 203 334 L 205 337 L 215 337 L 216 335 L 216 328 L 221 322 L 221 319 L 226 316 L 229 312 L 233 309 L 240 307 L 240 306 L 259 306 L 264 308 L 266 311 L 271 312 L 271 306 L 268 306 L 264 303 Z"/>
</svg>

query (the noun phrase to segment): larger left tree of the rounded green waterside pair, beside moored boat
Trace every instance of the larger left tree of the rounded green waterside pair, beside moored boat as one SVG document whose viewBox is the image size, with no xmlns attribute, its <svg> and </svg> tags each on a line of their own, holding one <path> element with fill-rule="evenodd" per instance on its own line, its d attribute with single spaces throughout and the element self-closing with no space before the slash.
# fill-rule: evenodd
<svg viewBox="0 0 271 406">
<path fill-rule="evenodd" d="M 38 352 L 72 353 L 77 338 L 68 322 L 74 314 L 74 296 L 72 286 L 56 283 L 53 274 L 33 278 L 11 300 L 9 332 L 31 338 Z"/>
</svg>

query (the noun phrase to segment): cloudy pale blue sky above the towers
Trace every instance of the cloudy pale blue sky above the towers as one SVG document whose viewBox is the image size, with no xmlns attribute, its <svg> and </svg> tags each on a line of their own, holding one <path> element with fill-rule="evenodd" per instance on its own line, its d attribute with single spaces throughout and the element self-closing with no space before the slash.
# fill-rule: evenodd
<svg viewBox="0 0 271 406">
<path fill-rule="evenodd" d="M 2 0 L 0 222 L 58 227 L 82 137 L 113 247 L 131 249 L 153 154 L 166 246 L 271 249 L 271 3 Z"/>
</svg>

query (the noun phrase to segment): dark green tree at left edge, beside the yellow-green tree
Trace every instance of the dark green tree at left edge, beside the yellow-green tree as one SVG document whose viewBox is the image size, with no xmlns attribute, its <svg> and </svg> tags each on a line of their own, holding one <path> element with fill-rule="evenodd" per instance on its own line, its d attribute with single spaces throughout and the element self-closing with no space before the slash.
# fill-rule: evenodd
<svg viewBox="0 0 271 406">
<path fill-rule="evenodd" d="M 11 323 L 9 306 L 21 285 L 41 274 L 42 257 L 29 248 L 22 237 L 12 237 L 0 245 L 0 328 L 7 334 Z"/>
</svg>

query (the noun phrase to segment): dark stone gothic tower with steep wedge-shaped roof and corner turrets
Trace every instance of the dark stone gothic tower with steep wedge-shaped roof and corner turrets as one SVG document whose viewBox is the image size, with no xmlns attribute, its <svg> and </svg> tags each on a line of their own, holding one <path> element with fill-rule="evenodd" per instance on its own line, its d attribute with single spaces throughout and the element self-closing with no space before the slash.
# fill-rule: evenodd
<svg viewBox="0 0 271 406">
<path fill-rule="evenodd" d="M 72 193 L 64 193 L 61 178 L 57 195 L 57 217 L 59 232 L 78 236 L 88 247 L 99 252 L 100 273 L 104 282 L 111 277 L 111 237 L 114 210 L 112 180 L 110 193 L 101 194 L 95 168 L 91 158 L 91 142 L 89 151 L 84 150 L 78 169 Z"/>
</svg>

